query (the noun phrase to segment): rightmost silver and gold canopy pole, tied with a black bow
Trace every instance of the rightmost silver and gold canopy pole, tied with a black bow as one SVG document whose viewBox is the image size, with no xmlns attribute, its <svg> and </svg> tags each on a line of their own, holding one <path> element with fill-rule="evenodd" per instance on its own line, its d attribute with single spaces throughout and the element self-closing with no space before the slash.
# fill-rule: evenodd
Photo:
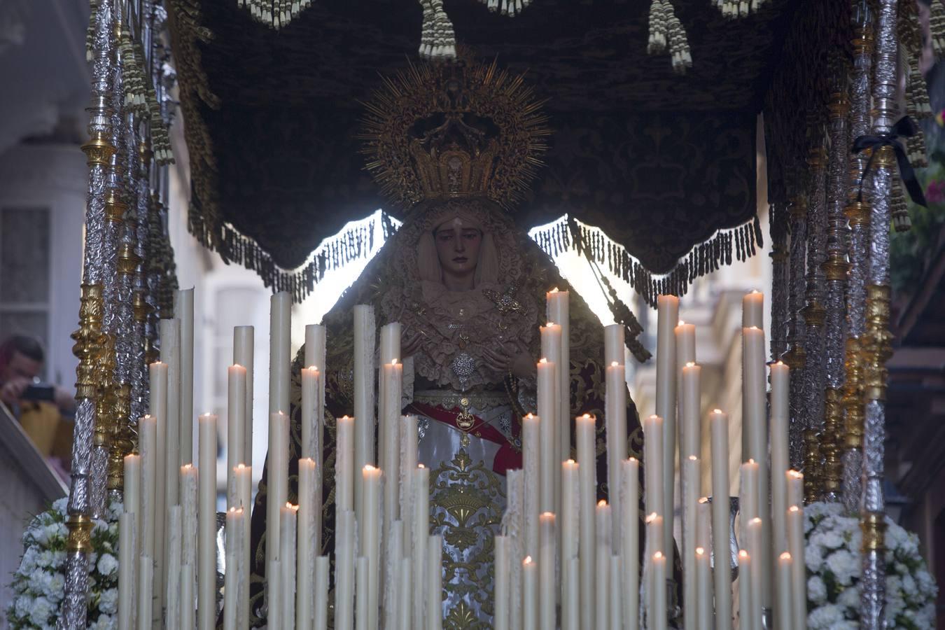
<svg viewBox="0 0 945 630">
<path fill-rule="evenodd" d="M 876 29 L 876 71 L 873 133 L 891 131 L 897 113 L 897 0 L 881 0 Z M 885 627 L 885 502 L 883 458 L 885 440 L 885 361 L 891 350 L 889 323 L 889 222 L 890 193 L 896 159 L 892 147 L 874 148 L 875 173 L 867 274 L 867 322 L 864 331 L 867 400 L 863 448 L 863 577 L 860 585 L 860 627 Z"/>
</svg>

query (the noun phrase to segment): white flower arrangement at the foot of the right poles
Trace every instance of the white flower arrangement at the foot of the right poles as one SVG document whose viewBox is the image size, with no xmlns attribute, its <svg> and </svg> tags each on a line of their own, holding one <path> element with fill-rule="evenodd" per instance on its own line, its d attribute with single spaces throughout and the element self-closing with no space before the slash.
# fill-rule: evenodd
<svg viewBox="0 0 945 630">
<path fill-rule="evenodd" d="M 935 627 L 938 588 L 919 553 L 919 538 L 888 517 L 885 523 L 886 627 Z M 804 506 L 804 536 L 807 627 L 858 628 L 860 520 L 846 516 L 840 503 L 811 503 Z"/>
</svg>

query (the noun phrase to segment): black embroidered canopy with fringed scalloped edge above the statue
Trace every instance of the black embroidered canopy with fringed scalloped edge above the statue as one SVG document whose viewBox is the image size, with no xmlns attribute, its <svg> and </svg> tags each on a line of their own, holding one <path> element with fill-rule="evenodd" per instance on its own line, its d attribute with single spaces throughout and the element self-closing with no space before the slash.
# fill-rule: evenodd
<svg viewBox="0 0 945 630">
<path fill-rule="evenodd" d="M 681 76 L 646 53 L 649 2 L 534 0 L 514 18 L 445 2 L 458 43 L 547 99 L 554 135 L 519 224 L 568 213 L 601 228 L 626 252 L 586 245 L 644 295 L 661 288 L 651 274 L 684 291 L 754 251 L 757 114 L 795 13 L 823 3 L 770 0 L 737 20 L 713 0 L 672 4 L 693 58 Z M 318 0 L 274 30 L 237 0 L 172 0 L 171 26 L 191 230 L 301 298 L 334 264 L 306 263 L 319 243 L 384 206 L 354 136 L 380 75 L 417 60 L 420 5 Z M 571 227 L 541 238 L 563 246 L 583 233 Z"/>
</svg>

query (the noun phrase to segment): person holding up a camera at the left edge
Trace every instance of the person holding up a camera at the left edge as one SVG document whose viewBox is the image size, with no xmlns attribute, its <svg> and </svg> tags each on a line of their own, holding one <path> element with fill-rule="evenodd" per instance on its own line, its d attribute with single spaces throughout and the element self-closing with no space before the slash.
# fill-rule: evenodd
<svg viewBox="0 0 945 630">
<path fill-rule="evenodd" d="M 0 400 L 44 456 L 66 463 L 76 399 L 57 385 L 39 382 L 44 359 L 43 346 L 32 337 L 16 334 L 0 344 Z"/>
</svg>

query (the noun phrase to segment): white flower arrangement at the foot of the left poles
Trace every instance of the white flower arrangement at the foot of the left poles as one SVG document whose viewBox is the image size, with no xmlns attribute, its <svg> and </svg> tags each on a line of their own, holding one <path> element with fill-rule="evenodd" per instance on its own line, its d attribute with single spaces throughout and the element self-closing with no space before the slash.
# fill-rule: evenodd
<svg viewBox="0 0 945 630">
<path fill-rule="evenodd" d="M 95 519 L 93 553 L 89 558 L 89 630 L 113 630 L 118 625 L 118 516 L 120 502 L 108 507 L 107 519 Z M 25 552 L 13 573 L 13 599 L 7 621 L 13 630 L 55 630 L 65 597 L 66 500 L 32 519 L 23 533 Z"/>
</svg>

